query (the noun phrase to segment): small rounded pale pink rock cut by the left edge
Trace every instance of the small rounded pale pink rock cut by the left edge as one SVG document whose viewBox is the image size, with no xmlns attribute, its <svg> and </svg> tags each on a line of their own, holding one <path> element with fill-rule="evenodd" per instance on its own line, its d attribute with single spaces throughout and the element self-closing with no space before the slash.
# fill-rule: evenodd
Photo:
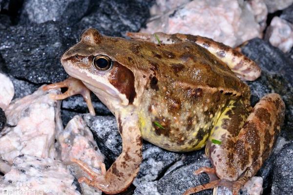
<svg viewBox="0 0 293 195">
<path fill-rule="evenodd" d="M 5 110 L 14 96 L 14 87 L 11 80 L 0 73 L 0 108 Z"/>
</svg>

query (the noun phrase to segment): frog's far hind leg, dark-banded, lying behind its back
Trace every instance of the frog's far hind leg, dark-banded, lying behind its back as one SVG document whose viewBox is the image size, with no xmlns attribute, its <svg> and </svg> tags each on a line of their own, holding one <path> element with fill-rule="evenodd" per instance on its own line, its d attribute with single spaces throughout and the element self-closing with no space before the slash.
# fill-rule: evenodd
<svg viewBox="0 0 293 195">
<path fill-rule="evenodd" d="M 194 42 L 225 62 L 227 66 L 242 80 L 255 80 L 261 74 L 261 69 L 253 60 L 249 59 L 239 51 L 224 45 L 223 43 L 214 41 L 213 39 L 179 33 L 168 35 L 161 32 L 154 33 L 153 35 L 128 32 L 126 35 L 132 39 L 148 40 L 154 43 L 172 44 L 176 42 Z"/>
</svg>

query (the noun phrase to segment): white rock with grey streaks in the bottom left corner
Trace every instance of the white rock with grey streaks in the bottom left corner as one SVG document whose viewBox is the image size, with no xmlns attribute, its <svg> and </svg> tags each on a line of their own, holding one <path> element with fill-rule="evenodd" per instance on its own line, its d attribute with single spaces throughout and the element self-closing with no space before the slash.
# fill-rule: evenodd
<svg viewBox="0 0 293 195">
<path fill-rule="evenodd" d="M 80 195 L 61 161 L 21 155 L 0 179 L 0 195 Z"/>
</svg>

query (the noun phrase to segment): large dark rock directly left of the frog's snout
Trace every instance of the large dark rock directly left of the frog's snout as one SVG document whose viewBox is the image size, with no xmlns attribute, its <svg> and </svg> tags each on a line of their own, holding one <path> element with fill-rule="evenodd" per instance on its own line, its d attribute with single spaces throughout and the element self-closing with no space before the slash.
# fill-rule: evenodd
<svg viewBox="0 0 293 195">
<path fill-rule="evenodd" d="M 45 22 L 0 31 L 0 54 L 8 73 L 34 83 L 58 82 L 68 77 L 60 57 L 75 39 L 66 36 L 67 30 L 70 31 L 56 22 Z"/>
</svg>

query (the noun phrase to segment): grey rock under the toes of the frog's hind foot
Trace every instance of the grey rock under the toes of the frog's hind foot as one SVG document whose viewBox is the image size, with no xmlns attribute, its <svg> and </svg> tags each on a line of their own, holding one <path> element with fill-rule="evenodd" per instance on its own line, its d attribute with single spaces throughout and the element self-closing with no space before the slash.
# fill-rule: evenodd
<svg viewBox="0 0 293 195">
<path fill-rule="evenodd" d="M 195 187 L 209 182 L 207 174 L 195 176 L 193 172 L 200 167 L 211 167 L 209 159 L 204 156 L 204 151 L 191 153 L 188 159 L 193 159 L 193 163 L 183 165 L 171 171 L 158 180 L 157 188 L 161 195 L 182 195 L 188 188 Z M 212 190 L 199 192 L 197 195 L 211 195 Z"/>
</svg>

